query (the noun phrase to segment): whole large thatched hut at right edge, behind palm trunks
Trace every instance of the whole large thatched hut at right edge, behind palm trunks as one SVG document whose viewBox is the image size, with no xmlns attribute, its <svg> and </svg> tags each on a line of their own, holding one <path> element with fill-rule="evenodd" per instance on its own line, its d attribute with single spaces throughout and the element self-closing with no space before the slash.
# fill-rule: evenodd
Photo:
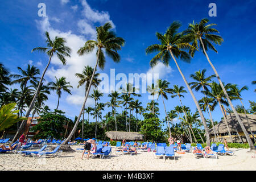
<svg viewBox="0 0 256 182">
<path fill-rule="evenodd" d="M 243 125 L 245 126 L 247 132 L 250 135 L 250 138 L 253 140 L 253 135 L 254 137 L 256 137 L 256 115 L 246 114 L 249 125 L 246 119 L 246 115 L 245 114 L 239 114 L 239 115 L 243 122 Z M 246 143 L 245 134 L 243 134 L 243 131 L 236 119 L 236 115 L 234 114 L 227 115 L 226 121 L 228 122 L 228 127 L 229 127 L 230 134 L 232 135 L 233 142 Z M 249 126 L 250 126 L 250 129 L 249 129 Z M 217 134 L 216 136 L 217 140 L 220 140 L 221 142 L 223 142 L 223 139 L 225 138 L 227 142 L 232 142 L 229 136 L 227 125 L 225 123 L 225 119 L 222 119 L 221 122 L 219 122 L 217 125 L 214 126 L 214 128 Z M 210 134 L 210 142 L 216 142 L 216 140 L 214 140 L 213 128 L 209 130 L 209 134 Z"/>
</svg>

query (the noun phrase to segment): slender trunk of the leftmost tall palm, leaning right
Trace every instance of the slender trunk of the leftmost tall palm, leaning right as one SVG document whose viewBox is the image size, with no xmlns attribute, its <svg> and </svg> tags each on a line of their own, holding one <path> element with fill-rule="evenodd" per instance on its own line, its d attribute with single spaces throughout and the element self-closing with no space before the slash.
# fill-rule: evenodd
<svg viewBox="0 0 256 182">
<path fill-rule="evenodd" d="M 44 79 L 44 75 L 46 75 L 46 71 L 47 71 L 47 69 L 48 69 L 48 67 L 49 67 L 49 64 L 51 63 L 51 59 L 52 59 L 52 53 L 51 53 L 51 55 L 49 56 L 48 64 L 47 64 L 47 66 L 46 66 L 46 69 L 44 69 L 43 75 L 42 75 L 42 77 L 41 77 L 41 79 L 40 79 L 40 81 L 39 81 L 39 84 L 38 84 L 38 88 L 36 89 L 36 94 L 35 94 L 35 96 L 33 97 L 33 100 L 32 100 L 32 102 L 31 102 L 31 104 L 30 104 L 30 107 L 28 107 L 28 110 L 27 110 L 27 113 L 26 113 L 26 115 L 25 115 L 25 118 L 28 118 L 28 117 L 29 117 L 31 110 L 32 110 L 32 108 L 33 108 L 34 105 L 35 105 L 36 98 L 38 98 L 38 93 L 40 92 L 40 88 L 41 88 L 41 86 L 42 86 L 42 82 L 43 82 L 43 79 Z M 19 126 L 19 130 L 16 132 L 16 134 L 15 134 L 13 140 L 11 140 L 11 143 L 15 142 L 15 141 L 18 139 L 18 136 L 24 131 L 26 125 L 27 125 L 27 120 L 23 120 L 22 123 L 21 123 L 21 125 Z"/>
</svg>

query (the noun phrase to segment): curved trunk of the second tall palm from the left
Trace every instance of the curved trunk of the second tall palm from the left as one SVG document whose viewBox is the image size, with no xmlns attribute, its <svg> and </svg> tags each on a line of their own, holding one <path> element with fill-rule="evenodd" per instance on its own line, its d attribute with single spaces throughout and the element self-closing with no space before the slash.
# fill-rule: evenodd
<svg viewBox="0 0 256 182">
<path fill-rule="evenodd" d="M 69 140 L 71 139 L 72 135 L 75 133 L 76 127 L 77 127 L 77 125 L 78 125 L 78 123 L 79 123 L 79 120 L 80 120 L 80 118 L 81 118 L 82 110 L 84 109 L 84 105 L 86 104 L 87 98 L 88 98 L 88 96 L 89 96 L 90 87 L 92 86 L 92 81 L 93 81 L 93 78 L 94 78 L 94 75 L 95 75 L 95 72 L 96 72 L 96 69 L 97 69 L 97 66 L 98 66 L 98 55 L 99 55 L 99 53 L 100 53 L 100 50 L 98 50 L 97 62 L 96 62 L 96 65 L 95 65 L 95 67 L 94 67 L 94 69 L 93 69 L 93 75 L 92 75 L 92 77 L 90 78 L 90 84 L 89 84 L 88 90 L 87 90 L 87 92 L 86 92 L 86 96 L 85 96 L 84 103 L 82 104 L 82 109 L 81 109 L 81 111 L 80 111 L 79 116 L 77 117 L 75 126 L 73 127 L 73 129 L 72 129 L 71 133 L 69 134 L 67 140 L 65 140 L 65 142 L 63 142 L 63 145 L 65 145 L 65 144 L 67 144 L 67 143 L 69 142 Z"/>
</svg>

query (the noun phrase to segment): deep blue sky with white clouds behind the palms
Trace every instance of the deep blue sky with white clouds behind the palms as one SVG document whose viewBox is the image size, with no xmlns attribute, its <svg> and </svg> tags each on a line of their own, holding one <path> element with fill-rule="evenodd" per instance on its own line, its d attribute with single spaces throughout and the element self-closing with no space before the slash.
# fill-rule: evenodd
<svg viewBox="0 0 256 182">
<path fill-rule="evenodd" d="M 209 3 L 216 3 L 217 17 L 209 17 Z M 38 16 L 38 4 L 46 4 L 47 17 Z M 81 101 L 84 90 L 76 89 L 76 72 L 81 72 L 85 65 L 94 66 L 96 56 L 77 56 L 77 49 L 82 47 L 86 40 L 95 38 L 95 26 L 106 22 L 112 22 L 114 31 L 118 36 L 126 40 L 125 47 L 120 51 L 122 60 L 119 64 L 107 59 L 105 69 L 101 73 L 110 73 L 115 69 L 115 74 L 147 73 L 150 71 L 149 62 L 155 54 L 146 55 L 145 49 L 151 44 L 158 43 L 156 32 L 164 32 L 174 20 L 179 20 L 183 26 L 180 31 L 187 28 L 188 23 L 199 22 L 202 18 L 208 18 L 210 23 L 216 23 L 220 35 L 224 38 L 221 46 L 216 46 L 218 53 L 209 51 L 210 60 L 216 67 L 222 81 L 238 84 L 240 87 L 247 85 L 249 90 L 242 93 L 245 106 L 249 107 L 248 100 L 254 100 L 255 85 L 251 81 L 256 78 L 255 64 L 255 40 L 256 4 L 254 1 L 113 1 L 113 0 L 55 0 L 55 1 L 3 1 L 0 11 L 0 57 L 1 62 L 12 73 L 18 73 L 16 67 L 26 68 L 27 64 L 33 64 L 43 72 L 48 57 L 43 53 L 31 53 L 32 48 L 44 47 L 44 32 L 50 35 L 62 36 L 68 46 L 73 49 L 71 59 L 67 66 L 63 67 L 56 58 L 47 72 L 46 80 L 53 81 L 54 77 L 65 76 L 71 82 L 74 89 L 72 96 L 63 94 L 59 109 L 64 110 L 69 118 L 78 115 L 81 109 Z M 197 52 L 190 64 L 179 61 L 188 82 L 189 75 L 207 69 L 207 76 L 213 75 L 205 56 Z M 185 86 L 176 65 L 170 62 L 170 67 L 159 65 L 154 72 L 160 73 L 160 78 L 168 80 L 170 86 L 177 84 Z M 18 88 L 14 85 L 13 88 Z M 195 93 L 197 100 L 203 95 Z M 109 101 L 105 94 L 101 102 Z M 194 112 L 196 107 L 191 95 L 184 94 L 183 104 L 191 107 Z M 142 105 L 146 107 L 148 94 L 140 98 Z M 159 100 L 160 118 L 164 118 L 162 100 Z M 178 98 L 169 98 L 166 102 L 167 110 L 180 105 Z M 46 104 L 55 109 L 57 96 L 52 92 Z M 91 100 L 88 105 L 92 105 Z M 233 101 L 234 105 L 240 104 Z M 93 106 L 93 105 L 92 105 Z M 111 109 L 105 107 L 105 111 Z M 121 111 L 121 110 L 118 110 Z M 208 114 L 204 114 L 208 118 Z M 213 118 L 220 121 L 222 117 L 219 107 L 213 112 Z"/>
</svg>

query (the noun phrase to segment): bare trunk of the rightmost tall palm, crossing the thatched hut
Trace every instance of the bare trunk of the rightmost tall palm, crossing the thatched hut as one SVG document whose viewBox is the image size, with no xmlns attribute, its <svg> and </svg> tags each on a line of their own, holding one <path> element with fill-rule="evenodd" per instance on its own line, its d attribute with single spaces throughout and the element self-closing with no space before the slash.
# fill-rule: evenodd
<svg viewBox="0 0 256 182">
<path fill-rule="evenodd" d="M 241 126 L 241 129 L 242 129 L 243 133 L 245 134 L 246 140 L 247 140 L 247 142 L 248 142 L 248 144 L 249 144 L 249 146 L 250 146 L 250 150 L 255 150 L 253 141 L 251 140 L 251 138 L 250 138 L 250 136 L 249 136 L 249 134 L 248 134 L 248 132 L 247 132 L 245 126 L 243 125 L 243 122 L 241 121 L 241 118 L 239 117 L 239 115 L 238 115 L 236 109 L 234 108 L 234 106 L 233 106 L 233 104 L 232 104 L 232 102 L 231 102 L 231 100 L 230 100 L 230 98 L 229 98 L 229 96 L 228 96 L 228 93 L 226 92 L 226 89 L 225 89 L 224 85 L 222 84 L 222 81 L 221 81 L 220 76 L 218 75 L 218 72 L 216 71 L 215 67 L 213 66 L 212 62 L 211 62 L 210 59 L 209 59 L 209 56 L 208 56 L 207 52 L 205 51 L 204 43 L 203 43 L 203 40 L 202 40 L 201 37 L 200 37 L 200 42 L 201 42 L 201 44 L 202 44 L 202 46 L 203 46 L 204 54 L 205 54 L 205 56 L 207 57 L 207 60 L 208 60 L 208 62 L 209 62 L 209 64 L 210 64 L 210 66 L 212 67 L 212 69 L 213 69 L 213 71 L 214 71 L 214 73 L 215 73 L 215 75 L 216 75 L 216 77 L 217 77 L 217 79 L 218 79 L 218 82 L 220 82 L 220 85 L 221 85 L 221 88 L 222 88 L 222 90 L 223 90 L 223 92 L 224 92 L 224 94 L 225 94 L 225 97 L 226 97 L 226 99 L 228 100 L 229 105 L 230 105 L 230 107 L 232 108 L 234 114 L 236 115 L 237 121 L 238 121 L 239 125 Z"/>
</svg>

